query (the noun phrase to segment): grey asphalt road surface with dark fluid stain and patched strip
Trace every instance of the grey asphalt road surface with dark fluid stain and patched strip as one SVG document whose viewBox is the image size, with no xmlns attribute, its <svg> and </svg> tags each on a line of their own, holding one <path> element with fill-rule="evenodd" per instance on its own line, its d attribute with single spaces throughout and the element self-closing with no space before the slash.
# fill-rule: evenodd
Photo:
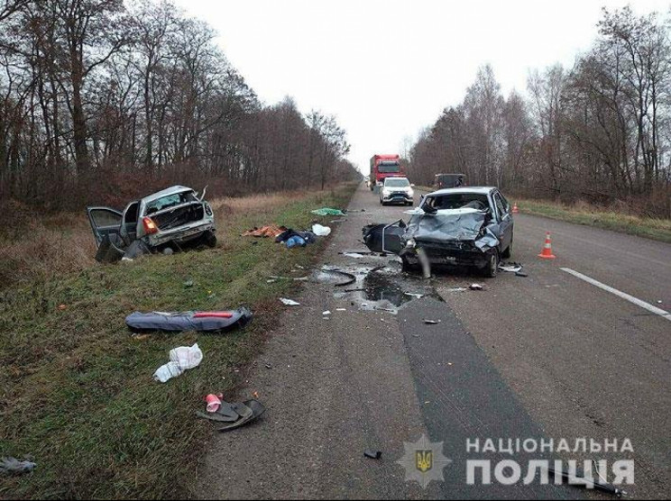
<svg viewBox="0 0 671 501">
<path fill-rule="evenodd" d="M 392 255 L 341 253 L 365 250 L 362 227 L 407 220 L 404 210 L 381 207 L 362 186 L 345 218 L 322 218 L 335 235 L 320 266 L 348 270 L 357 280 L 336 287 L 314 271 L 319 281 L 292 297 L 300 305 L 282 314 L 243 390 L 248 396 L 257 391 L 267 413 L 258 423 L 216 435 L 194 496 L 598 497 L 538 481 L 483 486 L 479 474 L 475 485 L 466 483 L 466 460 L 492 460 L 492 478 L 500 460 L 518 460 L 524 477 L 528 460 L 547 457 L 477 454 L 467 451 L 467 440 L 479 439 L 482 448 L 488 438 L 497 445 L 499 439 L 553 438 L 557 447 L 564 438 L 573 449 L 576 439 L 586 438 L 587 452 L 555 458 L 608 460 L 609 468 L 634 459 L 636 484 L 628 493 L 666 497 L 671 322 L 654 308 L 671 307 L 671 246 L 519 215 L 512 259 L 524 265 L 527 278 L 442 271 L 423 280 L 402 274 Z M 553 234 L 553 261 L 537 257 L 546 231 Z M 309 273 L 297 270 L 296 276 Z M 484 290 L 453 290 L 473 282 Z M 407 482 L 397 463 L 404 442 L 418 442 L 422 434 L 444 442 L 443 454 L 452 460 L 445 481 L 426 489 Z M 590 439 L 617 440 L 619 448 L 630 439 L 634 452 L 593 454 Z M 381 451 L 381 459 L 365 458 L 367 449 Z"/>
</svg>

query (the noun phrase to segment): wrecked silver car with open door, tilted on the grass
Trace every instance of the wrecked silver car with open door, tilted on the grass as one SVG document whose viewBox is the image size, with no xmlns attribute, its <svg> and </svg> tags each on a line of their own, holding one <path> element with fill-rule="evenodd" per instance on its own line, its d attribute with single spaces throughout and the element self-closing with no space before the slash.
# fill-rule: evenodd
<svg viewBox="0 0 671 501">
<path fill-rule="evenodd" d="M 126 205 L 124 212 L 110 207 L 87 207 L 97 241 L 96 260 L 133 259 L 143 253 L 180 249 L 185 244 L 216 245 L 215 215 L 205 192 L 170 187 Z"/>
</svg>

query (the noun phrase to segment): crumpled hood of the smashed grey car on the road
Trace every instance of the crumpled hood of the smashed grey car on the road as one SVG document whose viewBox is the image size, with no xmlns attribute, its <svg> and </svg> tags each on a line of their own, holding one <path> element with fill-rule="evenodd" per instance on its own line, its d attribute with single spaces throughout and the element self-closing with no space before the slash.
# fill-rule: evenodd
<svg viewBox="0 0 671 501">
<path fill-rule="evenodd" d="M 439 210 L 425 213 L 422 209 L 409 211 L 412 215 L 403 239 L 443 243 L 446 241 L 473 241 L 481 251 L 499 245 L 499 239 L 485 226 L 487 213 L 476 209 Z M 483 231 L 484 227 L 484 231 Z"/>
</svg>

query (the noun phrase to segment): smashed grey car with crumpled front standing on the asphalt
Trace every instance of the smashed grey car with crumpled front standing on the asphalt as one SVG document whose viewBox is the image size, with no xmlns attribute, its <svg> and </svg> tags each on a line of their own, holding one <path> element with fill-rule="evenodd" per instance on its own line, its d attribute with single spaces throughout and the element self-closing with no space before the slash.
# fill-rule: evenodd
<svg viewBox="0 0 671 501">
<path fill-rule="evenodd" d="M 398 253 L 404 269 L 420 265 L 424 252 L 431 265 L 474 267 L 495 277 L 501 258 L 512 253 L 510 204 L 496 187 L 463 187 L 424 196 L 402 221 L 363 229 L 372 251 Z M 420 251 L 421 250 L 421 251 Z"/>
</svg>

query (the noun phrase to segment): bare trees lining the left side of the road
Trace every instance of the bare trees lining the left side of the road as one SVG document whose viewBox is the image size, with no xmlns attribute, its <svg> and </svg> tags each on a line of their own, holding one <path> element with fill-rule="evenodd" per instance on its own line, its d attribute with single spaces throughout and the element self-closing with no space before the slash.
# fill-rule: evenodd
<svg viewBox="0 0 671 501">
<path fill-rule="evenodd" d="M 359 176 L 334 116 L 263 104 L 215 37 L 169 0 L 0 0 L 0 198 L 76 208 Z"/>
</svg>

